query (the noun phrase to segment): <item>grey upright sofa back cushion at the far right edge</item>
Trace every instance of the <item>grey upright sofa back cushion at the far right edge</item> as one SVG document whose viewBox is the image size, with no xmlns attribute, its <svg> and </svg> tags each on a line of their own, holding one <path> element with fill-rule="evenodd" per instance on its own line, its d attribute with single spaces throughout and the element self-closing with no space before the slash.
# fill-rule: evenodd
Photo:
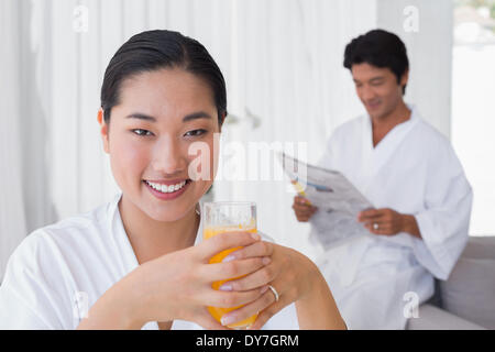
<svg viewBox="0 0 495 352">
<path fill-rule="evenodd" d="M 495 329 L 495 237 L 470 237 L 440 296 L 443 309 Z"/>
</svg>

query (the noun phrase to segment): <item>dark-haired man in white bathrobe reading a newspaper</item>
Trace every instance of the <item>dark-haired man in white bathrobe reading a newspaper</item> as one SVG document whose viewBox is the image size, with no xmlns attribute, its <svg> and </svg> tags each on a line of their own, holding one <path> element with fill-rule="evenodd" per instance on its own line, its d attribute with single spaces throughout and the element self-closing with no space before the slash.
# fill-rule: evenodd
<svg viewBox="0 0 495 352">
<path fill-rule="evenodd" d="M 333 132 L 319 165 L 341 172 L 375 209 L 358 218 L 334 209 L 323 216 L 340 226 L 310 238 L 324 249 L 318 264 L 349 328 L 404 329 L 410 297 L 430 298 L 433 277 L 447 279 L 465 246 L 472 190 L 450 142 L 404 101 L 409 62 L 397 35 L 358 36 L 344 67 L 367 113 Z M 299 196 L 293 208 L 299 221 L 318 211 Z M 326 243 L 356 222 L 362 237 Z"/>
</svg>

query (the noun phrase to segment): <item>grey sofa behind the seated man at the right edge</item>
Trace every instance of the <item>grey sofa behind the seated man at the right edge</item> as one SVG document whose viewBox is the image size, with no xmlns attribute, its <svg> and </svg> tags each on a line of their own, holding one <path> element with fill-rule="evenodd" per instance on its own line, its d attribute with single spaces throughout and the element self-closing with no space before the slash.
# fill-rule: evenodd
<svg viewBox="0 0 495 352">
<path fill-rule="evenodd" d="M 410 318 L 408 330 L 495 329 L 495 237 L 470 237 L 447 280 Z"/>
</svg>

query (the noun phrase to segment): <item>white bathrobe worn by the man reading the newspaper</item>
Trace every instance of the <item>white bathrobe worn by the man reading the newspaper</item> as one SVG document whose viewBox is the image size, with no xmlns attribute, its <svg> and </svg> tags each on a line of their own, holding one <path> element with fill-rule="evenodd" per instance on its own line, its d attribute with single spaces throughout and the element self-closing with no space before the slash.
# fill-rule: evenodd
<svg viewBox="0 0 495 352">
<path fill-rule="evenodd" d="M 416 299 L 432 296 L 433 277 L 448 278 L 468 241 L 471 186 L 450 142 L 410 108 L 376 147 L 367 114 L 342 124 L 319 163 L 343 173 L 376 209 L 414 215 L 422 237 L 363 227 L 363 237 L 331 249 L 311 229 L 326 249 L 317 264 L 350 329 L 404 329 Z"/>
</svg>

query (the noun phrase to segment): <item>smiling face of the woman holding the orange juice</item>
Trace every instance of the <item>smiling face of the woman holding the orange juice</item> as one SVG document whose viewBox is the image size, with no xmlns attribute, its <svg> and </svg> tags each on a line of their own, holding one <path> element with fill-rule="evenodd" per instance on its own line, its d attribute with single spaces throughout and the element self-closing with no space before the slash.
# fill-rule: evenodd
<svg viewBox="0 0 495 352">
<path fill-rule="evenodd" d="M 116 182 L 123 190 L 121 210 L 125 218 L 145 212 L 156 221 L 176 221 L 188 216 L 189 222 L 194 222 L 194 208 L 211 186 L 213 174 L 210 169 L 210 177 L 190 183 L 188 165 L 196 155 L 189 150 L 193 143 L 205 143 L 211 151 L 209 165 L 212 165 L 213 135 L 220 132 L 223 119 L 211 118 L 217 116 L 211 96 L 206 80 L 195 74 L 177 67 L 161 68 L 122 82 L 121 102 L 107 108 L 112 110 L 110 121 L 101 121 L 105 112 L 100 111 L 103 147 L 110 154 Z M 162 189 L 150 191 L 153 188 L 145 182 L 166 186 L 167 191 L 169 186 L 186 184 L 175 193 L 162 194 Z"/>
</svg>

